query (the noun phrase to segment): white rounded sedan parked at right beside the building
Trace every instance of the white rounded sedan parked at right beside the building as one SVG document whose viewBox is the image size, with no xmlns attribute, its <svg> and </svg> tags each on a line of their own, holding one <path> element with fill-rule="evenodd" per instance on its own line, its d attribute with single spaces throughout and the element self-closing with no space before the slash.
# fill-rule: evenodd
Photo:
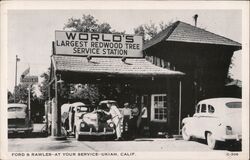
<svg viewBox="0 0 250 160">
<path fill-rule="evenodd" d="M 211 149 L 218 142 L 241 141 L 241 99 L 213 98 L 200 101 L 193 117 L 182 120 L 182 137 L 206 139 Z"/>
</svg>

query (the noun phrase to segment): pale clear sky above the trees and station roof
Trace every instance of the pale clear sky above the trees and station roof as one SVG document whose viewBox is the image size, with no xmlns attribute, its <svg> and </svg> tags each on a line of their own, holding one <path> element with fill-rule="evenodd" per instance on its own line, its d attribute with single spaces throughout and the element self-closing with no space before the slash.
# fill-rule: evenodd
<svg viewBox="0 0 250 160">
<path fill-rule="evenodd" d="M 18 83 L 22 72 L 30 66 L 30 75 L 40 76 L 50 66 L 51 44 L 55 30 L 63 30 L 71 17 L 81 18 L 90 14 L 99 22 L 107 22 L 116 31 L 133 34 L 141 24 L 177 20 L 197 26 L 241 43 L 242 22 L 240 10 L 9 10 L 8 11 L 8 90 L 13 91 L 15 81 L 15 57 Z M 230 74 L 241 80 L 241 51 L 233 56 Z M 41 81 L 41 79 L 39 79 Z"/>
</svg>

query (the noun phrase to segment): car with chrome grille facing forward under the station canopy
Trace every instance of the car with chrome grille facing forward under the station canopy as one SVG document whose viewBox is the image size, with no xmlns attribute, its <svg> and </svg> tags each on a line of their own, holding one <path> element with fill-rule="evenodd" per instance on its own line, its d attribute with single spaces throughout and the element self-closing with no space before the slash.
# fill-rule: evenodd
<svg viewBox="0 0 250 160">
<path fill-rule="evenodd" d="M 104 108 L 92 105 L 75 107 L 74 133 L 77 140 L 82 136 L 111 136 L 115 137 L 115 125 L 111 117 L 101 110 Z"/>
</svg>

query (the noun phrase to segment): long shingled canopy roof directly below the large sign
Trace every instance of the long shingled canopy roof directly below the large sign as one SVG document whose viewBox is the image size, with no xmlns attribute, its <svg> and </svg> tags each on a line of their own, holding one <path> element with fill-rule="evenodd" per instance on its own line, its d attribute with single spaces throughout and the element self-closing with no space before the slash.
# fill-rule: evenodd
<svg viewBox="0 0 250 160">
<path fill-rule="evenodd" d="M 67 81 L 98 78 L 167 78 L 184 73 L 162 68 L 145 58 L 88 57 L 53 55 L 52 66 Z"/>
</svg>

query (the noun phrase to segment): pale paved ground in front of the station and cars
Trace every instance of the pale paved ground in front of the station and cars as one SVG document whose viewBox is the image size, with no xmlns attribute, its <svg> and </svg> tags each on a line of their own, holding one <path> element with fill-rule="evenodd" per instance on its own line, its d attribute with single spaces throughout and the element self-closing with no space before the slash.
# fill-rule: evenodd
<svg viewBox="0 0 250 160">
<path fill-rule="evenodd" d="M 75 140 L 68 137 L 66 140 L 54 140 L 41 133 L 44 124 L 34 125 L 32 135 L 15 135 L 8 139 L 8 150 L 10 152 L 37 152 L 37 151 L 133 151 L 133 152 L 167 152 L 167 151 L 187 151 L 187 152 L 220 152 L 239 151 L 240 147 L 222 148 L 211 150 L 204 141 L 184 141 L 174 138 L 140 138 L 132 141 L 113 141 L 103 139 Z"/>
</svg>

